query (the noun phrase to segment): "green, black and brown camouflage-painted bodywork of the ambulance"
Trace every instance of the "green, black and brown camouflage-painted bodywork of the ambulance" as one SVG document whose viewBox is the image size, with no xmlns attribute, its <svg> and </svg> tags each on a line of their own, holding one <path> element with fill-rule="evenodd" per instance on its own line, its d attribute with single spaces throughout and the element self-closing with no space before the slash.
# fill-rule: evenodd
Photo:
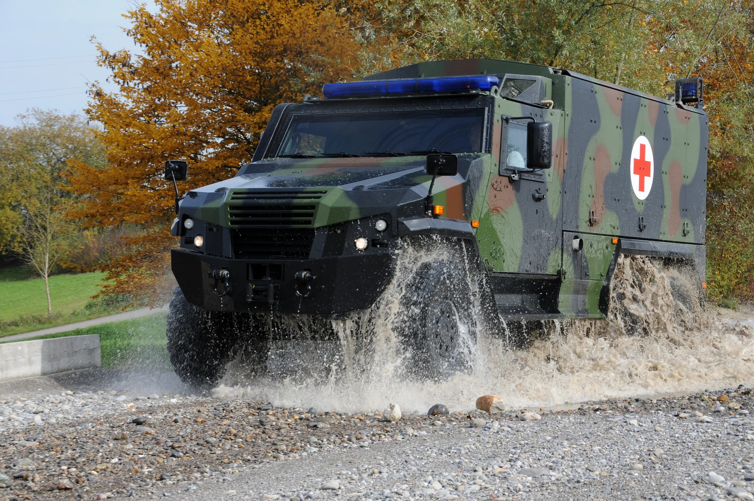
<svg viewBox="0 0 754 501">
<path fill-rule="evenodd" d="M 486 152 L 458 155 L 458 174 L 437 178 L 434 203 L 445 207 L 442 219 L 479 221 L 475 236 L 487 272 L 503 278 L 556 278 L 557 311 L 547 313 L 581 317 L 602 315 L 600 294 L 620 251 L 613 238 L 688 244 L 703 275 L 708 130 L 703 111 L 567 70 L 513 61 L 434 61 L 367 79 L 482 73 L 536 75 L 544 89 L 539 97 L 552 101 L 549 109 L 496 92 L 464 98 L 464 106 L 489 110 Z M 368 111 L 369 106 L 385 105 L 385 98 L 358 104 Z M 275 158 L 270 149 L 274 134 L 284 127 L 284 117 L 302 106 L 329 104 L 281 105 L 253 163 L 231 180 L 194 189 L 183 199 L 181 217 L 195 217 L 222 233 L 219 255 L 233 257 L 227 231 L 232 226 L 230 207 L 250 203 L 234 199 L 238 194 L 264 189 L 316 192 L 315 202 L 290 201 L 314 205 L 311 222 L 303 225 L 311 228 L 380 214 L 391 214 L 394 220 L 423 214 L 431 179 L 423 156 Z M 552 168 L 516 180 L 501 152 L 507 145 L 504 118 L 520 116 L 552 122 L 553 158 Z M 639 136 L 647 138 L 654 157 L 651 190 L 643 200 L 631 185 L 636 159 L 632 149 Z M 184 235 L 206 235 L 209 226 L 200 224 Z M 582 242 L 576 251 L 574 239 Z M 504 287 L 493 292 L 505 293 Z"/>
</svg>

